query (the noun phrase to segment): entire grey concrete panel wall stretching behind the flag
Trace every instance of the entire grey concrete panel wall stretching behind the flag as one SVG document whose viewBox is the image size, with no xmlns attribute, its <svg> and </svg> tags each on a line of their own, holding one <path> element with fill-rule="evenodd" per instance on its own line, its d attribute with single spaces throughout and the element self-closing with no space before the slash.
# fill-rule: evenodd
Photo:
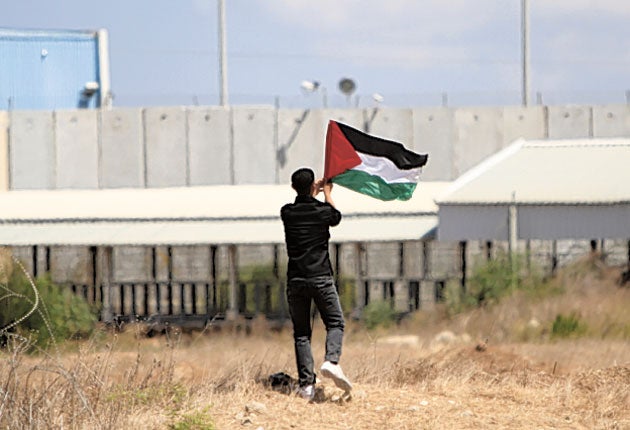
<svg viewBox="0 0 630 430">
<path fill-rule="evenodd" d="M 330 119 L 428 153 L 424 180 L 453 180 L 521 137 L 630 135 L 626 105 L 14 111 L 0 112 L 0 172 L 11 189 L 287 183 L 298 167 L 323 172 Z"/>
</svg>

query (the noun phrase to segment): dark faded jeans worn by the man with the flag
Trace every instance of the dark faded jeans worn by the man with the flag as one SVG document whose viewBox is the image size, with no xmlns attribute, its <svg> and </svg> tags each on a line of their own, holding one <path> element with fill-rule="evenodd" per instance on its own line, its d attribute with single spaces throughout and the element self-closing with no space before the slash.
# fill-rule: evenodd
<svg viewBox="0 0 630 430">
<path fill-rule="evenodd" d="M 332 276 L 290 279 L 287 285 L 287 301 L 293 322 L 293 340 L 300 386 L 315 383 L 313 352 L 311 351 L 311 302 L 326 326 L 325 360 L 339 362 L 343 330 L 345 327 L 339 295 Z"/>
</svg>

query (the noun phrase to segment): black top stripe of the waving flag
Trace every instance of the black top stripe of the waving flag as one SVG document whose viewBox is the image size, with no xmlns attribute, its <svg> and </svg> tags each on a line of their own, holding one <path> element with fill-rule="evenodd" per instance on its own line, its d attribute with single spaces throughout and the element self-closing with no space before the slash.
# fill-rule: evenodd
<svg viewBox="0 0 630 430">
<path fill-rule="evenodd" d="M 357 152 L 377 157 L 386 157 L 401 170 L 422 167 L 427 163 L 427 159 L 429 158 L 426 154 L 416 154 L 415 152 L 409 151 L 402 144 L 394 142 L 393 140 L 371 136 L 340 122 L 338 122 L 337 125 Z"/>
</svg>

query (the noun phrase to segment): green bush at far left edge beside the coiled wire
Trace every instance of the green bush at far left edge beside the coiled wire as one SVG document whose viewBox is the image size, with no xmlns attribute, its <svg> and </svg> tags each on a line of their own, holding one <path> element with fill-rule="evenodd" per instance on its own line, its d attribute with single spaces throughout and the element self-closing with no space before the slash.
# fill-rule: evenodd
<svg viewBox="0 0 630 430">
<path fill-rule="evenodd" d="M 87 337 L 96 327 L 97 316 L 83 297 L 69 288 L 53 284 L 50 276 L 35 280 L 39 305 L 35 312 L 14 330 L 31 337 L 38 346 L 51 341 Z M 35 303 L 35 294 L 26 275 L 15 268 L 0 295 L 0 327 L 5 327 L 26 315 Z"/>
</svg>

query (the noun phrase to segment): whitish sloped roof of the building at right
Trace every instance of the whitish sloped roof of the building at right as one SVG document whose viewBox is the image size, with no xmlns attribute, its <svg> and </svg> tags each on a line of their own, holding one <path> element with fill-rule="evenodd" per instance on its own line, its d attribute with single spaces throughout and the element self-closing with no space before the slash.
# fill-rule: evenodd
<svg viewBox="0 0 630 430">
<path fill-rule="evenodd" d="M 451 204 L 630 202 L 630 139 L 519 140 L 438 197 Z"/>
</svg>

